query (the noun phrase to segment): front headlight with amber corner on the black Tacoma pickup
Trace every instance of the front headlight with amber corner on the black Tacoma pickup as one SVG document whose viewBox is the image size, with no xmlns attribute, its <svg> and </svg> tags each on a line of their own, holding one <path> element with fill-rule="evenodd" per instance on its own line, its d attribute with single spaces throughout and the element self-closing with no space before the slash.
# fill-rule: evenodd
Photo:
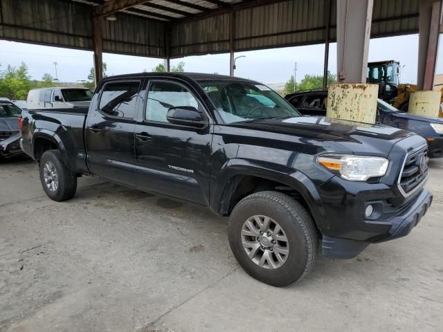
<svg viewBox="0 0 443 332">
<path fill-rule="evenodd" d="M 366 181 L 386 174 L 389 160 L 383 157 L 323 154 L 317 157 L 318 165 L 350 181 Z"/>
</svg>

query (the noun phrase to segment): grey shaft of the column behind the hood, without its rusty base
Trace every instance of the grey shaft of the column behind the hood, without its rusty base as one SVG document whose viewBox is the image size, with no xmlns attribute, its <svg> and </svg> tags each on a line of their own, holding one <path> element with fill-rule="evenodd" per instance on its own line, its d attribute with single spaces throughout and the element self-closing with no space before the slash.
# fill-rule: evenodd
<svg viewBox="0 0 443 332">
<path fill-rule="evenodd" d="M 365 83 L 373 0 L 337 0 L 337 72 L 342 83 Z"/>
</svg>

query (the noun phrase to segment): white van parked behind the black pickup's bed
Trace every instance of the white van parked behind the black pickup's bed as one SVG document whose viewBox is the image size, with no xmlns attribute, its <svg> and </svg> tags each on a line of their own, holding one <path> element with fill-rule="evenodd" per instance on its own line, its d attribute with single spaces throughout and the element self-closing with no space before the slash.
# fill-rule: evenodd
<svg viewBox="0 0 443 332">
<path fill-rule="evenodd" d="M 28 92 L 28 109 L 89 107 L 92 92 L 87 88 L 42 88 Z"/>
</svg>

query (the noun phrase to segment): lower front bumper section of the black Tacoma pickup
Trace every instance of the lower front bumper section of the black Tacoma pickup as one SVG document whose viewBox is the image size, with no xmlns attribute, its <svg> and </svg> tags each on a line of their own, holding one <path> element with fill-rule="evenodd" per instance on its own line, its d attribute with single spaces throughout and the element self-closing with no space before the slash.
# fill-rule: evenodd
<svg viewBox="0 0 443 332">
<path fill-rule="evenodd" d="M 356 241 L 354 239 L 343 239 L 323 235 L 322 250 L 323 256 L 331 258 L 353 258 L 359 255 L 370 243 L 379 243 L 405 237 L 419 223 L 431 206 L 433 196 L 431 192 L 423 189 L 413 201 L 407 204 L 406 209 L 402 209 L 399 214 L 389 221 L 375 222 L 376 225 L 388 226 L 386 232 L 378 234 L 366 241 Z"/>
</svg>

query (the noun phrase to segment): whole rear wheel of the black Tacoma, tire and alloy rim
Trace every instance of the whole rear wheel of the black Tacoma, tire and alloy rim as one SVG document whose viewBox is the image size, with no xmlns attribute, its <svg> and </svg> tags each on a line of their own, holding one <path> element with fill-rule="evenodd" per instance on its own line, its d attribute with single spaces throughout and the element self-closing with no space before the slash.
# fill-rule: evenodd
<svg viewBox="0 0 443 332">
<path fill-rule="evenodd" d="M 77 176 L 62 161 L 60 151 L 45 151 L 40 158 L 40 182 L 46 195 L 54 201 L 66 201 L 75 195 Z"/>
</svg>

